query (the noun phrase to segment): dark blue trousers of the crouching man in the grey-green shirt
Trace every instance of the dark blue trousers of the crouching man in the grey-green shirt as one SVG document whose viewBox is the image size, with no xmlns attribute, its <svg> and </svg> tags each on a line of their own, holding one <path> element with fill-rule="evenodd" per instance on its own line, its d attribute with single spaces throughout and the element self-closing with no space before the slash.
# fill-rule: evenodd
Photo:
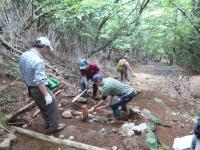
<svg viewBox="0 0 200 150">
<path fill-rule="evenodd" d="M 112 108 L 113 115 L 116 118 L 119 118 L 121 116 L 121 111 L 127 111 L 128 103 L 133 99 L 134 92 L 125 94 L 121 96 L 120 98 L 113 99 L 110 107 Z"/>
</svg>

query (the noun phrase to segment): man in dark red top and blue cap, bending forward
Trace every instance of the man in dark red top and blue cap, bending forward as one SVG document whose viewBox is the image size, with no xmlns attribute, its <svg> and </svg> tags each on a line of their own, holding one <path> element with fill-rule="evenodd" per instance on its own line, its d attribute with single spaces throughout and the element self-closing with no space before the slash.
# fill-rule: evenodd
<svg viewBox="0 0 200 150">
<path fill-rule="evenodd" d="M 89 80 L 93 80 L 93 76 L 100 72 L 99 67 L 95 63 L 89 63 L 86 59 L 80 60 L 80 73 L 81 73 L 81 90 L 84 91 L 89 86 Z M 97 98 L 98 87 L 93 82 L 93 99 Z M 85 92 L 83 97 L 88 98 L 88 93 Z"/>
</svg>

